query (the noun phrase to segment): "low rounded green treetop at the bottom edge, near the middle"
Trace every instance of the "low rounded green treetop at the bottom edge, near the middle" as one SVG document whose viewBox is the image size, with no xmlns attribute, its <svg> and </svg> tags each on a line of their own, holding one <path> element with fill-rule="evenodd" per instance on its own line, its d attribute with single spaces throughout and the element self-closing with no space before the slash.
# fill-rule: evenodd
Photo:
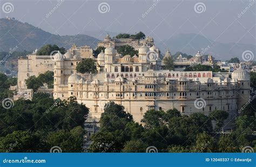
<svg viewBox="0 0 256 167">
<path fill-rule="evenodd" d="M 142 140 L 131 140 L 125 143 L 122 152 L 145 152 L 147 144 Z"/>
</svg>

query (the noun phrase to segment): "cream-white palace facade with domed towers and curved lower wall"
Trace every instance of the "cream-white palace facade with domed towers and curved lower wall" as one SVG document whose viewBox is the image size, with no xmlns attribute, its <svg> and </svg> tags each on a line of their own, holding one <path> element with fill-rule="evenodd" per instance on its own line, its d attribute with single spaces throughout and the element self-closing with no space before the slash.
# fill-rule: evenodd
<svg viewBox="0 0 256 167">
<path fill-rule="evenodd" d="M 187 115 L 225 110 L 231 120 L 250 98 L 250 74 L 244 69 L 233 73 L 169 71 L 161 69 L 160 52 L 154 45 L 138 50 L 138 56 L 120 56 L 114 47 L 107 47 L 96 59 L 97 74 L 76 72 L 82 61 L 79 55 L 55 54 L 53 98 L 76 96 L 97 118 L 105 103 L 113 101 L 137 122 L 149 109 L 173 108 Z M 165 56 L 171 56 L 170 52 Z"/>
</svg>

